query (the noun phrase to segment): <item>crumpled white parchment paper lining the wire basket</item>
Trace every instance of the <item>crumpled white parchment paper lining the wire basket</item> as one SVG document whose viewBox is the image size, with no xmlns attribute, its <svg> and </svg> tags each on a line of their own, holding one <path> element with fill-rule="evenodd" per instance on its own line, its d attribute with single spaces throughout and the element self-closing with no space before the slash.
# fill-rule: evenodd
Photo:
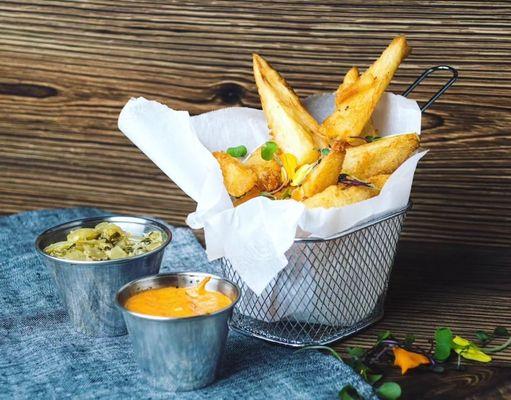
<svg viewBox="0 0 511 400">
<path fill-rule="evenodd" d="M 331 94 L 305 101 L 322 121 L 334 108 Z M 373 114 L 381 136 L 418 133 L 417 103 L 385 93 Z M 247 286 L 260 295 L 287 265 L 286 251 L 297 236 L 329 236 L 408 203 L 418 152 L 388 179 L 371 199 L 335 209 L 307 209 L 294 200 L 257 197 L 238 207 L 223 185 L 212 151 L 245 145 L 249 152 L 266 142 L 267 123 L 261 110 L 233 107 L 190 117 L 144 98 L 131 99 L 119 116 L 119 129 L 169 178 L 197 202 L 187 218 L 192 228 L 204 228 L 210 260 L 226 257 Z"/>
</svg>

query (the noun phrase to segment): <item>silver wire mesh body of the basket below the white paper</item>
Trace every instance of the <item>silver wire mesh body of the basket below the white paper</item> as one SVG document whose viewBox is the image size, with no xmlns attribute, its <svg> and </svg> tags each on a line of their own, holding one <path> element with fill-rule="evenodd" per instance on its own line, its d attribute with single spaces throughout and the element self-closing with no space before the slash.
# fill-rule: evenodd
<svg viewBox="0 0 511 400">
<path fill-rule="evenodd" d="M 347 235 L 297 241 L 289 264 L 256 296 L 222 260 L 242 297 L 232 328 L 291 346 L 326 344 L 370 325 L 383 302 L 405 211 Z"/>
</svg>

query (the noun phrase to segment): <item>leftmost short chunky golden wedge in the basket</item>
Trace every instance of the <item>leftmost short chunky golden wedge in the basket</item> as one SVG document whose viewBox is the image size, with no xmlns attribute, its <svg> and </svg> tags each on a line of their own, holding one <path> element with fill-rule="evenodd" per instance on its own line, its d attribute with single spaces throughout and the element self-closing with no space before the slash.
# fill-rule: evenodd
<svg viewBox="0 0 511 400">
<path fill-rule="evenodd" d="M 213 156 L 220 164 L 225 188 L 231 196 L 240 197 L 256 185 L 257 175 L 250 167 L 222 151 L 213 152 Z"/>
</svg>

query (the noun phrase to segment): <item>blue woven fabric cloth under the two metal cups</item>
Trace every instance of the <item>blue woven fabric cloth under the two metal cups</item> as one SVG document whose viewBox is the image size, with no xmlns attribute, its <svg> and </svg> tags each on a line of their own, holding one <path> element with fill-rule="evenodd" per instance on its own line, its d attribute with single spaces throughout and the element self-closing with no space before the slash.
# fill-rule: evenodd
<svg viewBox="0 0 511 400">
<path fill-rule="evenodd" d="M 128 336 L 75 333 L 49 272 L 34 251 L 44 229 L 104 214 L 97 209 L 27 212 L 0 218 L 0 398 L 5 399 L 334 399 L 344 385 L 375 399 L 348 366 L 316 351 L 230 333 L 218 380 L 165 393 L 140 378 Z M 218 273 L 192 232 L 173 228 L 162 270 Z"/>
</svg>

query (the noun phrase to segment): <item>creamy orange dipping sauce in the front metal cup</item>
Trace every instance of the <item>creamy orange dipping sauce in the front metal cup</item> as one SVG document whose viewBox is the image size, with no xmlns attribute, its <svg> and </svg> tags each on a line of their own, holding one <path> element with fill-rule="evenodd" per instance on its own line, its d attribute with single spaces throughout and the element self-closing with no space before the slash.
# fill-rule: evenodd
<svg viewBox="0 0 511 400">
<path fill-rule="evenodd" d="M 204 278 L 198 286 L 149 289 L 131 296 L 125 307 L 139 314 L 157 317 L 185 318 L 207 315 L 221 310 L 232 301 L 226 295 L 206 290 L 211 278 Z"/>
</svg>

